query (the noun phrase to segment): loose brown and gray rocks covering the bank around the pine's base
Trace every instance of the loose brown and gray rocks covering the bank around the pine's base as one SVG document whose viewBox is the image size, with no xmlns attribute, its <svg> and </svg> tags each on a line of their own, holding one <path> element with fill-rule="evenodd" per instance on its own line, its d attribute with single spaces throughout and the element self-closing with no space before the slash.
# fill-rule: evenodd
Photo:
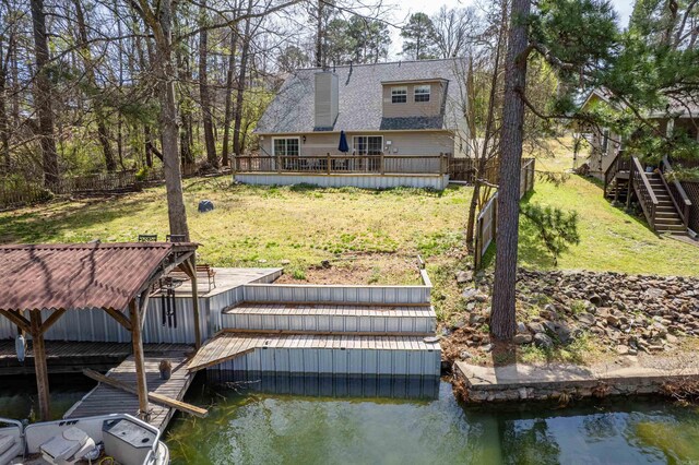
<svg viewBox="0 0 699 465">
<path fill-rule="evenodd" d="M 620 355 L 635 355 L 672 349 L 678 337 L 699 335 L 697 278 L 530 270 L 518 276 L 519 345 L 550 348 L 589 333 Z M 471 314 L 462 318 L 467 324 L 461 338 L 469 346 L 489 344 L 484 331 L 490 289 L 491 276 L 485 275 L 463 290 Z"/>
</svg>

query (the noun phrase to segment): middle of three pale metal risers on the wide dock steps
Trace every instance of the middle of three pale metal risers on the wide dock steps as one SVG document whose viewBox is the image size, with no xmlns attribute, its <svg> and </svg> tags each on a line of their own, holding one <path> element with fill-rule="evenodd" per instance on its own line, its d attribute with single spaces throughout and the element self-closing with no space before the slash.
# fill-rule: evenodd
<svg viewBox="0 0 699 465">
<path fill-rule="evenodd" d="M 437 317 L 426 311 L 419 317 L 383 315 L 323 315 L 323 314 L 223 314 L 223 327 L 247 331 L 316 331 L 333 333 L 405 333 L 433 334 Z"/>
</svg>

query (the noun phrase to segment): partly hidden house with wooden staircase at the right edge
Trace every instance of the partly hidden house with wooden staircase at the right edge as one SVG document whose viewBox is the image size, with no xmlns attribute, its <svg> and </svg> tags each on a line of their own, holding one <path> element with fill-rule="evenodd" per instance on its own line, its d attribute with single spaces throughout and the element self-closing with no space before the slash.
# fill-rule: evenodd
<svg viewBox="0 0 699 465">
<path fill-rule="evenodd" d="M 596 105 L 623 108 L 609 91 L 594 90 L 581 106 L 589 111 Z M 661 132 L 687 135 L 699 142 L 699 102 L 673 100 L 661 111 L 644 115 Z M 670 154 L 659 166 L 645 166 L 633 154 L 626 154 L 624 140 L 607 128 L 579 128 L 590 142 L 589 172 L 604 181 L 604 194 L 614 201 L 638 203 L 649 226 L 656 233 L 689 235 L 699 233 L 699 182 L 672 176 L 675 163 Z"/>
</svg>

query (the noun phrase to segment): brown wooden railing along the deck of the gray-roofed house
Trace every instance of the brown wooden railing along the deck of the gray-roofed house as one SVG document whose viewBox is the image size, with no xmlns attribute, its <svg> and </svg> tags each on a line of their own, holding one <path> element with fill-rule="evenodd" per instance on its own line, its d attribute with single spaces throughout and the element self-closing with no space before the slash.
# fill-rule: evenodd
<svg viewBox="0 0 699 465">
<path fill-rule="evenodd" d="M 446 155 L 236 156 L 236 172 L 445 175 Z"/>
</svg>

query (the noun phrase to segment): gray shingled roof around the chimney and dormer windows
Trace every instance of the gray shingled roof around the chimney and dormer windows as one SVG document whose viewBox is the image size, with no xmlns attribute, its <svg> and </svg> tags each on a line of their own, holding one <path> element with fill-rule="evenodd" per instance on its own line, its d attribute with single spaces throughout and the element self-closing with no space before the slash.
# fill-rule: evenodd
<svg viewBox="0 0 699 465">
<path fill-rule="evenodd" d="M 293 73 L 260 118 L 256 132 L 313 132 L 315 75 L 309 68 Z M 336 67 L 340 111 L 333 131 L 386 131 L 400 129 L 457 129 L 465 108 L 466 62 L 461 58 Z M 437 118 L 382 118 L 386 81 L 445 79 L 447 102 Z M 463 124 L 463 122 L 461 122 Z"/>
</svg>

